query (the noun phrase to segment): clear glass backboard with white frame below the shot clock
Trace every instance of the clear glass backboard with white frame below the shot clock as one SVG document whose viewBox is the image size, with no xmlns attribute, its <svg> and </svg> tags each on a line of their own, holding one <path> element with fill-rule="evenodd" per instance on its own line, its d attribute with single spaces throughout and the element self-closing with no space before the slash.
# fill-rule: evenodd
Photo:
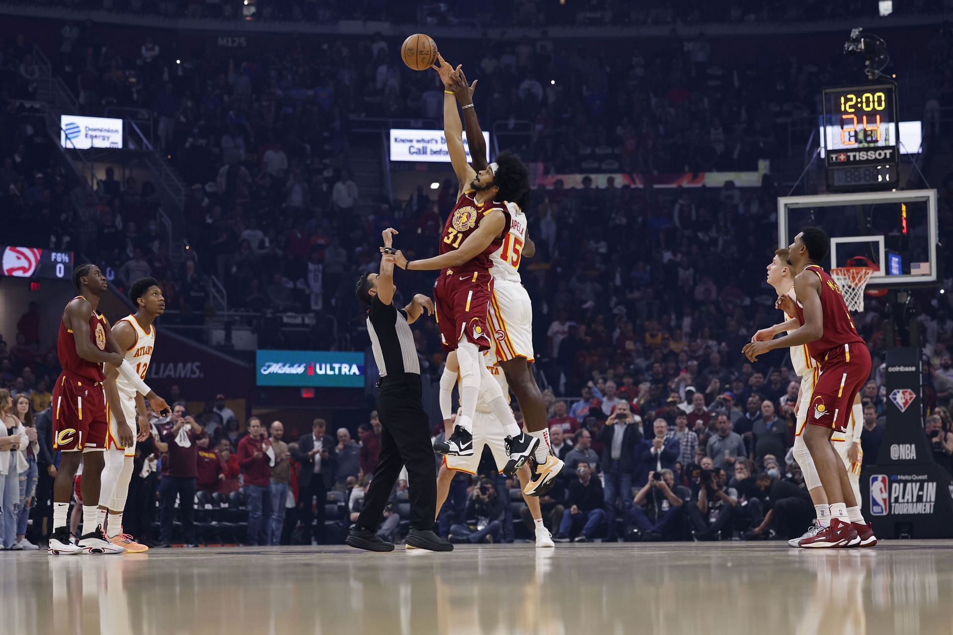
<svg viewBox="0 0 953 635">
<path fill-rule="evenodd" d="M 788 247 L 801 228 L 827 232 L 831 249 L 821 266 L 846 267 L 856 256 L 878 270 L 868 287 L 937 283 L 937 190 L 816 194 L 778 199 L 778 243 Z M 854 263 L 850 263 L 854 264 Z"/>
</svg>

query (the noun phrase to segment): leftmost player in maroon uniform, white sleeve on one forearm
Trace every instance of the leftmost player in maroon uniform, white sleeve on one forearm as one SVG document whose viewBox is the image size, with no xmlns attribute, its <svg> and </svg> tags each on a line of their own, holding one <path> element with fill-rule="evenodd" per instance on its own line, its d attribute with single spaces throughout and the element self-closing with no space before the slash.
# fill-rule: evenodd
<svg viewBox="0 0 953 635">
<path fill-rule="evenodd" d="M 80 295 L 63 311 L 56 351 L 63 372 L 53 387 L 53 449 L 62 451 L 53 483 L 53 531 L 51 554 L 122 553 L 123 546 L 107 540 L 99 523 L 100 476 L 103 450 L 109 428 L 109 411 L 119 420 L 119 443 L 132 444 L 132 430 L 126 423 L 113 379 L 107 380 L 103 365 L 119 368 L 128 381 L 138 380 L 132 367 L 112 339 L 106 318 L 96 313 L 99 298 L 108 288 L 106 276 L 95 265 L 73 269 L 72 284 Z M 141 381 L 141 380 L 139 380 Z M 156 411 L 168 410 L 165 400 L 153 392 L 147 395 Z M 109 404 L 109 405 L 107 405 Z M 73 476 L 83 459 L 83 533 L 73 543 L 67 527 Z"/>
</svg>

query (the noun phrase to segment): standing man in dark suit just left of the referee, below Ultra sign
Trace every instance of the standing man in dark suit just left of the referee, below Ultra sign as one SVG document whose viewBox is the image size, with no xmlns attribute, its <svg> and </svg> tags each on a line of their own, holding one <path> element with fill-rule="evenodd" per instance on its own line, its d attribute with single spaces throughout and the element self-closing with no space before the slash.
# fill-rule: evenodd
<svg viewBox="0 0 953 635">
<path fill-rule="evenodd" d="M 312 544 L 313 532 L 318 545 L 323 545 L 325 539 L 324 505 L 328 498 L 328 489 L 334 485 L 337 459 L 335 441 L 324 433 L 326 427 L 324 419 L 315 419 L 311 434 L 298 439 L 298 451 L 294 455 L 294 460 L 301 464 L 301 471 L 298 472 L 298 487 L 301 491 L 298 517 L 304 524 L 301 531 L 303 545 Z M 313 506 L 317 510 L 316 515 L 312 511 Z M 316 521 L 314 525 L 313 518 Z"/>
</svg>

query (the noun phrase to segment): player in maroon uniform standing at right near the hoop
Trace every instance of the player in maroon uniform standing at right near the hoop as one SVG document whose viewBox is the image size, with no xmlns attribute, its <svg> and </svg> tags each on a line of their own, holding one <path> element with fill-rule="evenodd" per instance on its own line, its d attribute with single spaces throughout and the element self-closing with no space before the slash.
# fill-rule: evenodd
<svg viewBox="0 0 953 635">
<path fill-rule="evenodd" d="M 797 300 L 786 294 L 777 308 L 796 315 L 801 324 L 778 339 L 751 342 L 742 352 L 754 362 L 775 348 L 807 345 L 818 362 L 818 381 L 811 393 L 804 444 L 817 467 L 830 505 L 831 523 L 816 535 L 802 538 L 802 547 L 873 546 L 877 539 L 847 478 L 847 470 L 831 444 L 832 434 L 847 429 L 851 406 L 870 375 L 870 351 L 858 334 L 841 296 L 841 288 L 818 264 L 830 247 L 820 228 L 804 228 L 788 248 L 788 263 L 798 272 L 794 279 Z"/>
</svg>

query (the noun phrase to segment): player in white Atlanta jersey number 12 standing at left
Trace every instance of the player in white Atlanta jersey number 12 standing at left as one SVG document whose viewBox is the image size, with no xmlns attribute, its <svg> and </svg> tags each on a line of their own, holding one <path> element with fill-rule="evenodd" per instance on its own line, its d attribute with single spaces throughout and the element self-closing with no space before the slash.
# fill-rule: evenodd
<svg viewBox="0 0 953 635">
<path fill-rule="evenodd" d="M 149 369 L 152 350 L 155 347 L 155 327 L 152 322 L 165 312 L 166 301 L 162 297 L 159 283 L 154 278 L 142 278 L 132 283 L 129 297 L 137 310 L 135 314 L 128 315 L 113 325 L 112 336 L 125 351 L 124 358 L 135 369 L 139 379 L 139 382 L 133 384 L 123 376 L 116 378 L 120 404 L 127 425 L 132 428 L 133 440 L 132 445 L 120 445 L 117 429 L 119 424 L 110 413 L 110 428 L 106 437 L 106 466 L 103 467 L 102 488 L 99 493 L 99 513 L 104 516 L 101 520 L 108 520 L 108 524 L 101 524 L 106 526 L 106 536 L 113 545 L 125 547 L 127 553 L 141 553 L 149 547 L 136 543 L 132 536 L 123 533 L 122 514 L 132 479 L 135 441 L 145 441 L 151 433 L 146 402 L 143 399 L 143 395 L 150 390 L 143 380 L 146 379 L 146 371 Z M 136 421 L 138 429 L 132 423 Z"/>
</svg>

